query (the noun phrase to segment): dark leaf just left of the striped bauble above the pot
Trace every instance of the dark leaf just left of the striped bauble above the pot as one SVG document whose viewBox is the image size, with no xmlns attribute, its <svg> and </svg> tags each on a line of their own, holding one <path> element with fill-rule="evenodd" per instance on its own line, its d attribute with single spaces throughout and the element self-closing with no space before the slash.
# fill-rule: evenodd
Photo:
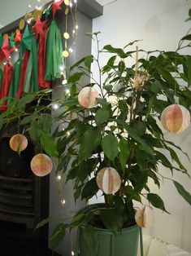
<svg viewBox="0 0 191 256">
<path fill-rule="evenodd" d="M 93 196 L 95 196 L 98 192 L 99 188 L 96 183 L 96 179 L 90 179 L 86 184 L 85 187 L 83 188 L 81 192 L 81 199 L 89 200 Z"/>
</svg>

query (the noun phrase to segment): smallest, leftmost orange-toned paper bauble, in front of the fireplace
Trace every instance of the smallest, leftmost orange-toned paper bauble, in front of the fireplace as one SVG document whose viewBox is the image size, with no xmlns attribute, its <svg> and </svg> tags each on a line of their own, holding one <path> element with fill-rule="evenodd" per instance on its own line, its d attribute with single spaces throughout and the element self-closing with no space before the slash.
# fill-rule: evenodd
<svg viewBox="0 0 191 256">
<path fill-rule="evenodd" d="M 28 146 L 28 140 L 24 135 L 13 135 L 9 141 L 10 148 L 15 152 L 23 151 Z"/>
</svg>

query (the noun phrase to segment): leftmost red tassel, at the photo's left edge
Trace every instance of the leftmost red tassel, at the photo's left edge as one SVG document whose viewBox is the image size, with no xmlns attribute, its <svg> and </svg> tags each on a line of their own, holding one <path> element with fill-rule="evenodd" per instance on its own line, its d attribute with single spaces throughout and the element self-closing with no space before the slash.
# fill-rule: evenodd
<svg viewBox="0 0 191 256">
<path fill-rule="evenodd" d="M 10 63 L 7 63 L 4 67 L 4 73 L 2 77 L 2 87 L 0 90 L 0 99 L 7 97 L 9 94 L 9 89 L 11 86 L 11 78 L 12 78 L 13 67 Z M 0 108 L 1 111 L 7 110 L 7 100 L 5 100 Z"/>
</svg>

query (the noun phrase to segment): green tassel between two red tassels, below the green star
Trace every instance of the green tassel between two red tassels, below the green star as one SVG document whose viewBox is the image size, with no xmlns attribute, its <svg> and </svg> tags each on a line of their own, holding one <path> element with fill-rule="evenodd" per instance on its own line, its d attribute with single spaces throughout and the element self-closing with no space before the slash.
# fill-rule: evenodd
<svg viewBox="0 0 191 256">
<path fill-rule="evenodd" d="M 24 92 L 38 91 L 37 73 L 37 40 L 33 40 L 27 70 L 24 77 Z"/>
</svg>

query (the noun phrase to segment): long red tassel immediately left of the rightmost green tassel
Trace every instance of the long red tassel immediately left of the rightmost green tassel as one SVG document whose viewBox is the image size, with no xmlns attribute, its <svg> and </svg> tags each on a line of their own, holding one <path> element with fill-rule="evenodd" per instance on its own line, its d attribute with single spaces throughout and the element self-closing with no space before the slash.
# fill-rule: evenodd
<svg viewBox="0 0 191 256">
<path fill-rule="evenodd" d="M 50 88 L 50 82 L 45 81 L 46 71 L 46 30 L 44 34 L 39 35 L 39 47 L 38 47 L 38 86 L 41 89 Z"/>
</svg>

